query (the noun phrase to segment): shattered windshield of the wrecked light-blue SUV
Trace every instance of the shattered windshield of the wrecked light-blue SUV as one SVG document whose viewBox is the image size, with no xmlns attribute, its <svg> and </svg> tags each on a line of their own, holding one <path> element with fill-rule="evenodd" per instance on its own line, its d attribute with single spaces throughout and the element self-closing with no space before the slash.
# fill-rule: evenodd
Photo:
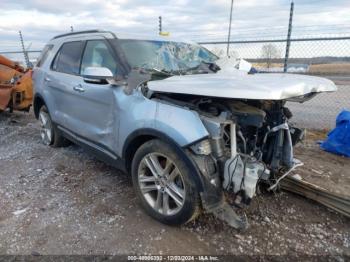
<svg viewBox="0 0 350 262">
<path fill-rule="evenodd" d="M 118 40 L 132 68 L 181 72 L 213 63 L 218 57 L 197 44 L 170 41 Z"/>
</svg>

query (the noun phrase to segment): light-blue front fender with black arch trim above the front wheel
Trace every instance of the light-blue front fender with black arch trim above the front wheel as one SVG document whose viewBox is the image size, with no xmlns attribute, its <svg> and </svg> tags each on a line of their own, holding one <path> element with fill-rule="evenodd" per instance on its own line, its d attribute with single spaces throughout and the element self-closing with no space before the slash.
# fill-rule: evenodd
<svg viewBox="0 0 350 262">
<path fill-rule="evenodd" d="M 205 191 L 205 177 L 201 175 L 187 148 L 209 136 L 207 129 L 195 111 L 145 98 L 142 94 L 126 96 L 121 93 L 118 155 L 130 170 L 137 149 L 151 139 L 160 139 L 181 156 L 191 169 L 194 182 L 200 192 Z M 130 106 L 132 105 L 132 107 Z"/>
</svg>

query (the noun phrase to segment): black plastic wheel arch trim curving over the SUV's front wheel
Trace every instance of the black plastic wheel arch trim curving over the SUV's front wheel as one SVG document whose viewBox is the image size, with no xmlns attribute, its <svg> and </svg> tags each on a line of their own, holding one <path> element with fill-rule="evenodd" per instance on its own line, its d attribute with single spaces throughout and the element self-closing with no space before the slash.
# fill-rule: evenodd
<svg viewBox="0 0 350 262">
<path fill-rule="evenodd" d="M 194 174 L 193 179 L 197 186 L 197 189 L 199 192 L 202 192 L 204 185 L 203 185 L 202 177 L 200 175 L 200 171 L 197 168 L 196 164 L 186 154 L 184 147 L 181 147 L 168 135 L 162 132 L 159 132 L 158 130 L 154 130 L 150 128 L 140 129 L 140 130 L 134 131 L 127 137 L 123 146 L 123 151 L 122 151 L 123 152 L 122 158 L 125 162 L 126 169 L 128 171 L 131 170 L 131 162 L 137 149 L 141 145 L 143 145 L 144 143 L 152 139 L 159 139 L 163 142 L 168 143 L 170 146 L 173 147 L 176 153 L 178 153 L 182 157 L 182 159 L 186 162 L 187 166 L 190 168 L 191 173 Z"/>
</svg>

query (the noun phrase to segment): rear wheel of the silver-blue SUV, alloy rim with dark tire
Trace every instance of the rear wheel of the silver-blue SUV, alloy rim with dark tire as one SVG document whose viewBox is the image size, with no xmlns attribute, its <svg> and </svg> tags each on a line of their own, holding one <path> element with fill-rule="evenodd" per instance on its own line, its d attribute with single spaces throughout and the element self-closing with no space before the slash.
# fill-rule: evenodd
<svg viewBox="0 0 350 262">
<path fill-rule="evenodd" d="M 69 141 L 59 134 L 57 128 L 52 123 L 49 111 L 45 105 L 40 108 L 39 121 L 41 124 L 41 141 L 45 145 L 52 147 L 62 147 L 69 145 Z"/>
</svg>

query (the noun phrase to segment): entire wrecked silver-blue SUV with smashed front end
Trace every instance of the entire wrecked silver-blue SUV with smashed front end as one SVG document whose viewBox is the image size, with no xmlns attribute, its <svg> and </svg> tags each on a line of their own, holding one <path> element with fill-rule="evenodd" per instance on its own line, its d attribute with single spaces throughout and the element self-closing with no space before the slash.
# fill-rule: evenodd
<svg viewBox="0 0 350 262">
<path fill-rule="evenodd" d="M 301 165 L 287 101 L 335 91 L 311 76 L 252 74 L 171 38 L 91 30 L 54 37 L 34 69 L 42 141 L 67 141 L 129 172 L 146 212 L 182 224 L 204 210 L 236 228 L 235 209 Z M 227 197 L 229 196 L 229 197 Z"/>
</svg>

